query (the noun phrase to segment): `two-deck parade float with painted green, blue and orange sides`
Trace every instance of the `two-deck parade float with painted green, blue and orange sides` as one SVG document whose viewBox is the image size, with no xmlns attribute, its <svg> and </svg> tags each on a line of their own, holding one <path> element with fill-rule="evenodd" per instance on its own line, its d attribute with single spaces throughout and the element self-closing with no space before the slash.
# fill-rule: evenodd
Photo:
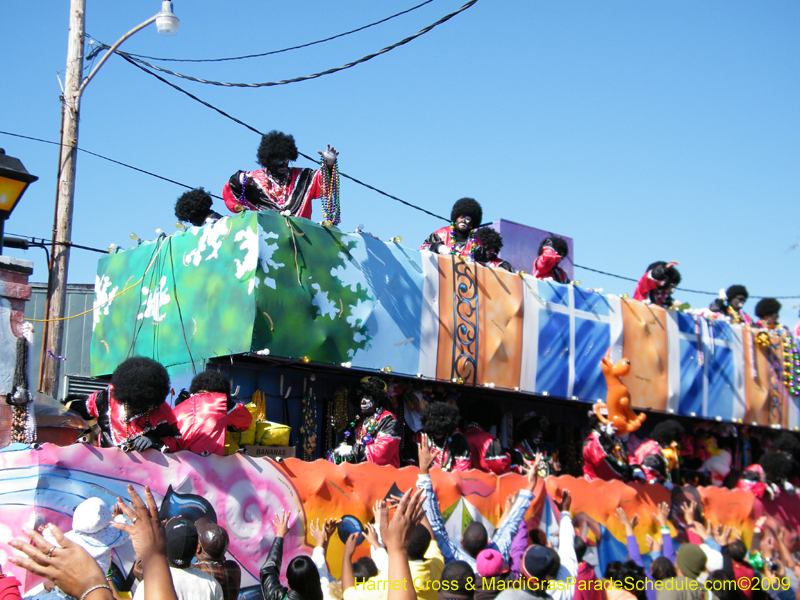
<svg viewBox="0 0 800 600">
<path fill-rule="evenodd" d="M 298 458 L 125 453 L 86 443 L 11 446 L 0 453 L 0 554 L 11 552 L 5 542 L 22 527 L 54 522 L 69 529 L 83 499 L 113 503 L 127 495 L 130 482 L 137 489 L 149 485 L 166 515 L 191 509 L 226 527 L 230 556 L 242 567 L 242 593 L 256 594 L 276 511 L 297 515 L 285 555 L 310 553 L 310 520 L 353 515 L 367 522 L 376 499 L 416 481 L 415 467 L 324 460 L 349 425 L 342 398 L 365 374 L 442 385 L 474 404 L 502 407 L 497 433 L 509 443 L 515 416 L 532 409 L 578 429 L 575 416 L 585 417 L 607 398 L 600 364 L 608 354 L 612 362 L 632 359 L 623 377 L 632 407 L 653 418 L 727 423 L 740 433 L 744 427 L 796 430 L 793 384 L 774 367 L 788 362 L 791 371 L 793 357 L 775 333 L 757 343 L 761 333 L 273 212 L 191 227 L 100 260 L 92 374 L 108 376 L 141 355 L 166 366 L 179 391 L 196 372 L 220 370 L 238 399 L 258 396 L 266 420 L 292 427 L 292 452 L 284 455 Z M 582 439 L 573 436 L 580 448 Z M 519 475 L 480 471 L 436 470 L 433 480 L 456 539 L 475 520 L 491 534 L 506 496 L 524 485 Z M 670 491 L 568 475 L 540 481 L 529 527 L 556 534 L 554 499 L 563 489 L 572 492 L 574 517 L 598 542 L 601 569 L 626 554 L 614 516 L 620 505 L 639 515 L 642 547 L 658 531 L 656 504 L 677 507 L 687 498 L 700 501 L 710 521 L 735 525 L 745 542 L 764 511 L 800 532 L 800 502 L 789 493 L 757 499 L 713 486 Z M 675 516 L 673 533 L 680 538 Z M 329 549 L 334 575 L 342 549 L 338 540 Z M 128 568 L 130 546 L 114 552 Z M 35 582 L 14 573 L 25 587 Z"/>
</svg>

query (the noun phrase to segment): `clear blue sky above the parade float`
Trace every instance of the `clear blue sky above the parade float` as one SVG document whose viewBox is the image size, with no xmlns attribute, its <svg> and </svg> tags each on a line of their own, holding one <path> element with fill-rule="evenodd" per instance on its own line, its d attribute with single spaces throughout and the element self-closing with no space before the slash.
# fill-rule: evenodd
<svg viewBox="0 0 800 600">
<path fill-rule="evenodd" d="M 170 58 L 265 52 L 420 1 L 177 0 L 176 37 L 151 26 L 122 49 Z M 307 75 L 399 41 L 463 2 L 434 0 L 271 57 L 159 64 L 217 81 Z M 111 44 L 159 8 L 155 0 L 87 0 L 86 30 Z M 0 9 L 0 130 L 58 140 L 68 9 L 66 0 Z M 456 199 L 472 196 L 484 220 L 570 236 L 579 265 L 638 278 L 654 260 L 678 260 L 687 288 L 743 283 L 752 295 L 797 296 L 800 249 L 790 248 L 800 242 L 799 30 L 800 4 L 789 1 L 479 0 L 401 48 L 313 81 L 232 89 L 169 79 L 261 131 L 294 134 L 305 154 L 333 144 L 343 172 L 435 213 L 449 215 Z M 258 142 L 119 57 L 84 95 L 81 147 L 218 195 L 236 170 L 255 168 Z M 0 146 L 40 177 L 6 233 L 49 238 L 57 147 L 7 135 Z M 127 247 L 132 231 L 145 239 L 157 228 L 170 233 L 183 191 L 82 154 L 73 241 Z M 221 200 L 215 208 L 226 213 Z M 409 247 L 443 224 L 347 180 L 342 217 L 343 230 L 363 224 Z M 46 280 L 42 250 L 4 253 L 33 261 L 32 279 Z M 74 250 L 70 282 L 92 283 L 97 256 Z M 576 277 L 633 292 L 632 283 L 581 269 Z M 693 306 L 712 299 L 676 296 Z M 783 321 L 793 325 L 798 300 L 783 304 Z"/>
</svg>

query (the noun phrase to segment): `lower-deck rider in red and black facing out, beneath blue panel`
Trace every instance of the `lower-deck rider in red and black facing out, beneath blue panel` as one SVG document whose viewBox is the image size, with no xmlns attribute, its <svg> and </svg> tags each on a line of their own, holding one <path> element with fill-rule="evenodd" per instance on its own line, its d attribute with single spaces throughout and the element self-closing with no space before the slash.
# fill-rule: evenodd
<svg viewBox="0 0 800 600">
<path fill-rule="evenodd" d="M 364 377 L 359 387 L 361 415 L 352 423 L 355 439 L 334 451 L 336 458 L 350 462 L 372 462 L 400 468 L 400 423 L 386 407 L 386 383 L 378 377 Z M 345 432 L 345 438 L 350 432 Z M 349 441 L 349 440 L 348 440 Z"/>
</svg>

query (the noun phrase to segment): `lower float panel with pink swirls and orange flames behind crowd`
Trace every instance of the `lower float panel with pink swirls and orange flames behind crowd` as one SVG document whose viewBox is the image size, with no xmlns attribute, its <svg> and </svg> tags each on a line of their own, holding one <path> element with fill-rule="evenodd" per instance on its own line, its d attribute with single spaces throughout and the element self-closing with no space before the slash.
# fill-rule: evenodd
<svg viewBox="0 0 800 600">
<path fill-rule="evenodd" d="M 155 450 L 126 454 L 86 444 L 45 444 L 38 450 L 18 445 L 0 452 L 0 562 L 8 574 L 23 582 L 24 590 L 30 589 L 39 583 L 38 578 L 6 561 L 15 552 L 7 542 L 23 537 L 22 528 L 55 523 L 67 531 L 75 507 L 86 498 L 99 497 L 111 505 L 118 496 L 128 498 L 128 483 L 140 494 L 148 485 L 162 517 L 211 516 L 228 530 L 229 558 L 241 566 L 243 595 L 257 596 L 258 573 L 274 538 L 271 523 L 276 513 L 288 510 L 294 518 L 284 546 L 285 569 L 292 557 L 311 553 L 313 540 L 307 532 L 312 520 L 352 515 L 366 523 L 372 519 L 376 500 L 414 487 L 418 473 L 413 467 L 398 470 L 371 463 L 334 465 L 297 459 L 276 463 L 242 454 L 201 457 L 190 452 L 163 455 Z M 474 521 L 484 523 L 491 535 L 506 497 L 525 486 L 522 476 L 497 477 L 480 471 L 444 473 L 434 469 L 432 478 L 453 540 L 459 540 Z M 670 492 L 660 485 L 550 477 L 540 480 L 534 489 L 525 522 L 528 528 L 544 531 L 554 543 L 560 523 L 555 500 L 564 489 L 573 497 L 571 513 L 576 527 L 580 530 L 582 523 L 587 525 L 590 546 L 602 540 L 595 551 L 601 572 L 609 561 L 624 560 L 626 555 L 624 529 L 615 516 L 618 506 L 629 516 L 639 515 L 636 537 L 643 554 L 646 535 L 659 535 L 653 514 L 657 504 L 665 501 L 673 506 L 674 515 L 680 514 L 677 507 L 687 499 L 701 502 L 710 522 L 737 527 L 748 544 L 755 520 L 765 512 L 771 529 L 785 526 L 790 532 L 800 532 L 800 498 L 795 495 L 782 494 L 778 500 L 762 504 L 742 490 L 684 487 Z M 672 535 L 679 541 L 683 529 L 682 522 L 673 517 Z M 367 546 L 362 544 L 356 556 L 366 555 Z M 328 565 L 336 577 L 341 574 L 343 549 L 334 536 Z M 114 550 L 114 561 L 126 571 L 133 559 L 130 543 Z"/>
</svg>

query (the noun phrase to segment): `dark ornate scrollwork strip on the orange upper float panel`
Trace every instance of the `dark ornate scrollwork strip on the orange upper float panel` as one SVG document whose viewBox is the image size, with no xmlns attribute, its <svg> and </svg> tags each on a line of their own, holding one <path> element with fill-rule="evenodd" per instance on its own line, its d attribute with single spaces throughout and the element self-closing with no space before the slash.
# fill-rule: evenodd
<svg viewBox="0 0 800 600">
<path fill-rule="evenodd" d="M 474 266 L 453 261 L 453 364 L 451 378 L 475 384 L 478 366 L 478 285 Z"/>
</svg>

